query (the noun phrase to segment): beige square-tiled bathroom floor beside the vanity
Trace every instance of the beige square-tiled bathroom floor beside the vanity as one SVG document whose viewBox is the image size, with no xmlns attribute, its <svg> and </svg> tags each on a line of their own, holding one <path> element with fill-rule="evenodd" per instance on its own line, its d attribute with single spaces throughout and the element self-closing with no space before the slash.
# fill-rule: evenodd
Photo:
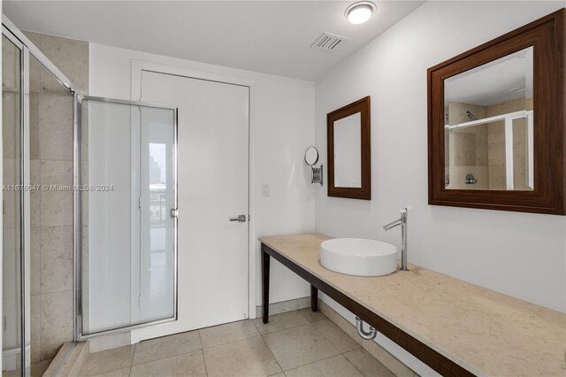
<svg viewBox="0 0 566 377">
<path fill-rule="evenodd" d="M 324 314 L 302 309 L 88 355 L 81 376 L 379 376 L 394 373 Z"/>
</svg>

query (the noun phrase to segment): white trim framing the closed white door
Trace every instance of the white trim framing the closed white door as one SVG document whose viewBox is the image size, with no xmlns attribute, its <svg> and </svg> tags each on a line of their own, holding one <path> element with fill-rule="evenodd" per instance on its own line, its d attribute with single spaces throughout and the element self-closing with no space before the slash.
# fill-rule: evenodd
<svg viewBox="0 0 566 377">
<path fill-rule="evenodd" d="M 132 91 L 133 101 L 141 100 L 142 97 L 142 72 L 163 73 L 174 76 L 197 79 L 203 81 L 216 81 L 220 83 L 240 85 L 249 88 L 249 118 L 248 118 L 248 319 L 256 318 L 256 83 L 253 80 L 229 76 L 219 73 L 199 71 L 163 63 L 132 59 Z M 180 216 L 183 216 L 180 208 Z M 164 331 L 163 331 L 164 330 Z M 156 329 L 155 331 L 134 331 L 131 333 L 131 342 L 141 342 L 145 339 L 172 334 L 167 329 Z M 188 329 L 187 329 L 188 330 Z"/>
</svg>

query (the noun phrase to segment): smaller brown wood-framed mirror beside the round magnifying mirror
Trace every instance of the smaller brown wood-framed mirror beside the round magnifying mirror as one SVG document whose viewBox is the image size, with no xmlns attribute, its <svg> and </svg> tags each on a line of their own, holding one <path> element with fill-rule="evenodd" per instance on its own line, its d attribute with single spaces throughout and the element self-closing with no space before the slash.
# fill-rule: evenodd
<svg viewBox="0 0 566 377">
<path fill-rule="evenodd" d="M 370 96 L 326 116 L 328 196 L 371 200 Z"/>
</svg>

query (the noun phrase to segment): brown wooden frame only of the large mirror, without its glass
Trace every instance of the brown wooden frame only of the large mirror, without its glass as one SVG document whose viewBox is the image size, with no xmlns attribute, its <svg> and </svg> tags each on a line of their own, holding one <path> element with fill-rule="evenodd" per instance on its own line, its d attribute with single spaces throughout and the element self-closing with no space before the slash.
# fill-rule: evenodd
<svg viewBox="0 0 566 377">
<path fill-rule="evenodd" d="M 429 204 L 566 214 L 565 18 L 566 10 L 561 9 L 428 69 Z M 446 189 L 444 80 L 531 46 L 534 47 L 534 189 Z"/>
</svg>

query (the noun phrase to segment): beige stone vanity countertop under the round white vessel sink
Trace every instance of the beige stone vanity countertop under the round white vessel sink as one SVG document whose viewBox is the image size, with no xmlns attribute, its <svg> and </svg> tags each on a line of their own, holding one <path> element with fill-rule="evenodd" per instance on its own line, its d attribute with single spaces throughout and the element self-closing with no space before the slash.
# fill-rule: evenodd
<svg viewBox="0 0 566 377">
<path fill-rule="evenodd" d="M 417 265 L 380 277 L 319 263 L 326 235 L 260 241 L 477 375 L 566 375 L 566 315 Z"/>
</svg>

